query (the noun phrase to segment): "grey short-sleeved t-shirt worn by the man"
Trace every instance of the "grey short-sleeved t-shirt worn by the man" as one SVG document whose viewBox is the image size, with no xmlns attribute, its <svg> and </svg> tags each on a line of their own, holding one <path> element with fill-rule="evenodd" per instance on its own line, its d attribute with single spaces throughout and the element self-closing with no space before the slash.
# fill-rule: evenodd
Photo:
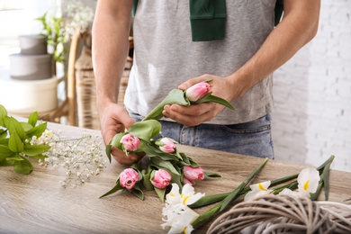
<svg viewBox="0 0 351 234">
<path fill-rule="evenodd" d="M 139 0 L 133 23 L 134 60 L 124 104 L 146 116 L 170 90 L 195 76 L 229 76 L 274 29 L 275 0 L 227 1 L 224 40 L 193 42 L 186 0 Z M 225 108 L 211 123 L 256 120 L 273 108 L 272 76 Z"/>
</svg>

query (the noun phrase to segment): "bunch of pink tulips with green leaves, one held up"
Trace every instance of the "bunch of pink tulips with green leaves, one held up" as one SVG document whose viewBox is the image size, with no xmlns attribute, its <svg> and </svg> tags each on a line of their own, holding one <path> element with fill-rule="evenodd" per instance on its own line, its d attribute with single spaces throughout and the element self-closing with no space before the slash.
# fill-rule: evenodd
<svg viewBox="0 0 351 234">
<path fill-rule="evenodd" d="M 142 188 L 145 188 L 154 190 L 164 202 L 165 194 L 170 190 L 170 184 L 183 187 L 184 184 L 193 185 L 196 181 L 203 180 L 205 176 L 220 176 L 204 171 L 191 157 L 179 152 L 174 139 L 157 137 L 161 130 L 161 124 L 157 119 L 162 117 L 163 107 L 166 104 L 190 105 L 215 102 L 234 110 L 230 103 L 211 94 L 210 82 L 211 80 L 198 83 L 185 91 L 173 89 L 142 121 L 134 123 L 129 130 L 113 137 L 106 147 L 106 154 L 110 161 L 112 146 L 124 151 L 127 157 L 130 152 L 143 157 L 139 162 L 122 171 L 112 190 L 101 197 L 117 191 L 129 191 L 144 200 Z"/>
</svg>

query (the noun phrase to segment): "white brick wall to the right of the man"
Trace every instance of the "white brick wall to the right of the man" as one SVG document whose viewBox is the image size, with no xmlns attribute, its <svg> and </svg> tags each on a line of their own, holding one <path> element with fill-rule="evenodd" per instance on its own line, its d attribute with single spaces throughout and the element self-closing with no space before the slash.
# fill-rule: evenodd
<svg viewBox="0 0 351 234">
<path fill-rule="evenodd" d="M 275 158 L 351 172 L 351 1 L 322 1 L 317 36 L 275 72 Z"/>
</svg>

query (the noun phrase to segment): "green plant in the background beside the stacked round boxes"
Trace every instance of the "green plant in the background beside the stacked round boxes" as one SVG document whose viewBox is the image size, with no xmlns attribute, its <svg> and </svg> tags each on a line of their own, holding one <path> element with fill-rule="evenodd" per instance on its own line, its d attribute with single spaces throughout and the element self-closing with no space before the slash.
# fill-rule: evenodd
<svg viewBox="0 0 351 234">
<path fill-rule="evenodd" d="M 67 42 L 67 37 L 64 33 L 62 18 L 49 16 L 45 13 L 35 20 L 42 24 L 40 35 L 47 37 L 48 45 L 53 48 L 53 52 L 50 54 L 53 56 L 54 60 L 59 63 L 65 63 L 67 48 L 65 48 L 64 44 Z"/>
</svg>

